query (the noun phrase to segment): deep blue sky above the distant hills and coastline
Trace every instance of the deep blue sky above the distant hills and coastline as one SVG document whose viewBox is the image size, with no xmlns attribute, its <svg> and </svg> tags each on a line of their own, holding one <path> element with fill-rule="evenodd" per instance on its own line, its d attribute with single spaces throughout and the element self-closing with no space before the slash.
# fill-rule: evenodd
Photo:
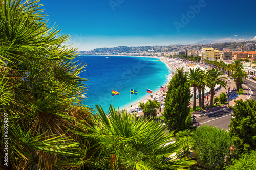
<svg viewBox="0 0 256 170">
<path fill-rule="evenodd" d="M 78 50 L 256 40 L 252 0 L 41 0 L 51 25 Z"/>
</svg>

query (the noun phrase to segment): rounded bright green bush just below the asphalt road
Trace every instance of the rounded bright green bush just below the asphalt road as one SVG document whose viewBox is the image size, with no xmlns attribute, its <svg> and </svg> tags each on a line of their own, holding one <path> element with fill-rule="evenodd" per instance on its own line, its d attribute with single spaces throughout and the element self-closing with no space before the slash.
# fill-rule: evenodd
<svg viewBox="0 0 256 170">
<path fill-rule="evenodd" d="M 198 153 L 201 163 L 210 167 L 221 169 L 224 167 L 224 160 L 229 154 L 231 147 L 231 136 L 225 130 L 203 125 L 193 131 L 192 138 L 194 148 Z"/>
</svg>

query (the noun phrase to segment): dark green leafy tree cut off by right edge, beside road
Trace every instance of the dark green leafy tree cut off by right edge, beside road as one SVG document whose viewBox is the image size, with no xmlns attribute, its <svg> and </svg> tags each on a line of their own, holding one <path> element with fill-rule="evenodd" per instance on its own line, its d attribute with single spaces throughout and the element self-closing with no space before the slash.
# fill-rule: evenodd
<svg viewBox="0 0 256 170">
<path fill-rule="evenodd" d="M 235 102 L 234 107 L 230 106 L 233 118 L 229 127 L 236 153 L 241 155 L 256 149 L 256 101 L 241 99 Z"/>
</svg>

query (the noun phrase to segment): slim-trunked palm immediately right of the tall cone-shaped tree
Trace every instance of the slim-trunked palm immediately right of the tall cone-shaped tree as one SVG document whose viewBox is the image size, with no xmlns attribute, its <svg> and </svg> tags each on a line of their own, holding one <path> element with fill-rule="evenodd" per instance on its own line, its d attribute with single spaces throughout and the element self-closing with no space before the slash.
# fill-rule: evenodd
<svg viewBox="0 0 256 170">
<path fill-rule="evenodd" d="M 193 87 L 193 110 L 197 110 L 197 87 L 201 85 L 201 78 L 202 78 L 203 71 L 200 68 L 191 69 L 190 73 L 188 74 L 188 82 L 191 87 Z M 201 97 L 201 96 L 200 96 Z"/>
</svg>

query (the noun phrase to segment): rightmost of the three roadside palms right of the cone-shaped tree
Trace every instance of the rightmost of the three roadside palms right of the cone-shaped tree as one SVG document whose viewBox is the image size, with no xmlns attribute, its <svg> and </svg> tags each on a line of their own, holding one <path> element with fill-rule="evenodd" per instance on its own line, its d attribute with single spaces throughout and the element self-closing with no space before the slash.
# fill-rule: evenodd
<svg viewBox="0 0 256 170">
<path fill-rule="evenodd" d="M 211 69 L 209 70 L 209 74 L 211 75 L 210 77 L 210 91 L 211 91 L 211 95 L 210 95 L 210 106 L 214 106 L 214 87 L 216 85 L 221 85 L 222 87 L 224 87 L 226 89 L 226 82 L 222 81 L 221 79 L 227 79 L 226 77 L 221 77 L 223 75 L 222 71 L 219 71 L 218 69 Z"/>
</svg>

